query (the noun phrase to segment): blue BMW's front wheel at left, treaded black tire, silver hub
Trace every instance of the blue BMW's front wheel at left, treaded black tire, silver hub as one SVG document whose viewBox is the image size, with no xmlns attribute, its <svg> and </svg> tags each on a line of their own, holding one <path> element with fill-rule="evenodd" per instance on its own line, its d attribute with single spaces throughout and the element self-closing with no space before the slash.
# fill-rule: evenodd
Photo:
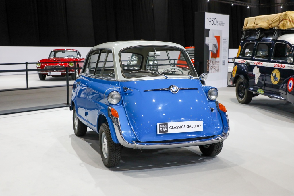
<svg viewBox="0 0 294 196">
<path fill-rule="evenodd" d="M 122 146 L 112 141 L 107 123 L 103 123 L 99 129 L 99 146 L 101 158 L 106 167 L 114 167 L 121 161 Z"/>
</svg>

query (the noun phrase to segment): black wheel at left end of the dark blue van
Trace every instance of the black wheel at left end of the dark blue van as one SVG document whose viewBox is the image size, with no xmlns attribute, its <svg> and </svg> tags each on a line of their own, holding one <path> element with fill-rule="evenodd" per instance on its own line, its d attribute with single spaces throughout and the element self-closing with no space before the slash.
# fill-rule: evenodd
<svg viewBox="0 0 294 196">
<path fill-rule="evenodd" d="M 236 83 L 236 97 L 239 103 L 248 104 L 252 100 L 253 92 L 245 88 L 242 78 L 239 78 Z"/>
</svg>

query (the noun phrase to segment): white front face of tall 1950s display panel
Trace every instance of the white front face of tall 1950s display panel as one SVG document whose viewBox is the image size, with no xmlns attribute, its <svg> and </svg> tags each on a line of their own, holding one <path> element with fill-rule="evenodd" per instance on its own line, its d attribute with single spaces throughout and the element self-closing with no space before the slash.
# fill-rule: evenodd
<svg viewBox="0 0 294 196">
<path fill-rule="evenodd" d="M 215 87 L 227 86 L 228 49 L 229 49 L 229 15 L 205 12 L 205 44 L 209 55 L 205 59 L 209 73 L 207 85 Z M 206 52 L 206 51 L 205 51 Z"/>
</svg>

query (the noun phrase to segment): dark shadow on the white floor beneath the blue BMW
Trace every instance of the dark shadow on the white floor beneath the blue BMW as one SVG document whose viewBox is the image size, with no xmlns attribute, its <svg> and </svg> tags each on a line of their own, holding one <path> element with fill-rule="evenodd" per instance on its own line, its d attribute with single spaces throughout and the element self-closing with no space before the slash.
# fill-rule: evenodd
<svg viewBox="0 0 294 196">
<path fill-rule="evenodd" d="M 71 135 L 70 137 L 74 138 L 76 136 Z M 97 156 L 98 159 L 101 160 L 99 148 L 99 135 L 95 131 L 88 131 L 85 136 L 78 137 L 76 139 L 84 140 L 89 144 L 89 146 L 91 146 L 91 148 L 93 148 L 93 150 L 97 152 L 95 153 L 96 157 L 93 157 L 93 155 L 89 154 L 89 156 L 87 156 L 87 159 L 83 159 L 82 161 L 89 162 L 88 164 L 93 165 L 93 161 L 97 161 Z M 74 145 L 85 145 L 85 143 L 81 144 L 81 142 L 76 142 Z M 84 157 L 84 153 L 91 153 L 91 150 L 89 149 L 86 151 L 89 152 L 85 152 L 85 150 L 76 150 L 76 153 L 79 157 Z M 79 153 L 83 154 L 79 155 Z M 121 162 L 116 167 L 112 167 L 109 169 L 112 171 L 127 171 L 165 168 L 180 165 L 199 164 L 211 161 L 215 158 L 204 157 L 201 155 L 202 153 L 197 146 L 187 148 L 166 148 L 154 150 L 133 150 L 131 148 L 123 147 L 121 151 Z M 89 158 L 93 158 L 94 160 L 89 160 Z M 99 161 L 99 163 L 101 164 L 99 164 L 99 167 L 104 167 L 102 160 Z"/>
</svg>

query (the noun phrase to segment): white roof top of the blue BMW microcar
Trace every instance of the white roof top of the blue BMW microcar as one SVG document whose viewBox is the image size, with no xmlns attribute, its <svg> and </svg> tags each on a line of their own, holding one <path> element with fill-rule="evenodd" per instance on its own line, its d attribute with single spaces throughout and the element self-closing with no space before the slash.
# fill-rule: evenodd
<svg viewBox="0 0 294 196">
<path fill-rule="evenodd" d="M 185 50 L 185 48 L 177 43 L 170 43 L 170 42 L 164 42 L 164 41 L 116 41 L 116 42 L 108 42 L 108 43 L 101 43 L 98 46 L 94 46 L 93 49 L 111 49 L 112 51 L 118 52 L 122 50 L 123 48 L 128 48 L 131 46 L 146 46 L 146 45 L 160 45 L 160 46 L 173 46 L 182 48 Z"/>
</svg>

